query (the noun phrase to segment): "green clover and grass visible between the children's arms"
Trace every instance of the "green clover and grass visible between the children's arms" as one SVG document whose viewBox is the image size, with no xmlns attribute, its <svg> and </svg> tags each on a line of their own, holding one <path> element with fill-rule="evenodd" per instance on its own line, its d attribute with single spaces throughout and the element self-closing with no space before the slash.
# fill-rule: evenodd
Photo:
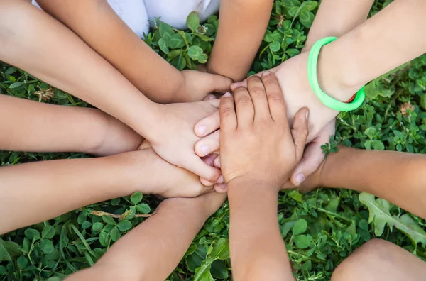
<svg viewBox="0 0 426 281">
<path fill-rule="evenodd" d="M 376 1 L 371 13 L 389 2 Z M 317 6 L 317 1 L 275 0 L 253 73 L 300 53 Z M 188 18 L 187 31 L 158 21 L 146 43 L 180 70 L 195 68 L 207 61 L 217 26 L 216 16 L 200 26 L 195 14 Z M 1 62 L 0 67 L 0 94 L 38 100 L 35 91 L 49 88 L 15 67 Z M 339 114 L 336 138 L 324 145 L 324 150 L 333 152 L 337 143 L 343 143 L 362 149 L 425 153 L 425 72 L 423 55 L 368 84 L 366 103 L 356 111 Z M 49 102 L 87 106 L 59 89 L 54 89 Z M 89 156 L 0 151 L 1 165 L 84 157 Z M 93 265 L 114 241 L 143 221 L 134 214 L 149 214 L 157 204 L 154 197 L 136 193 L 7 233 L 0 237 L 0 280 L 59 280 Z M 346 256 L 376 237 L 426 259 L 425 220 L 369 194 L 343 189 L 318 189 L 310 194 L 288 191 L 280 194 L 278 208 L 280 229 L 297 280 L 329 280 Z M 124 215 L 113 219 L 95 216 L 92 211 Z M 230 280 L 228 228 L 229 208 L 224 204 L 198 233 L 169 280 Z"/>
</svg>

